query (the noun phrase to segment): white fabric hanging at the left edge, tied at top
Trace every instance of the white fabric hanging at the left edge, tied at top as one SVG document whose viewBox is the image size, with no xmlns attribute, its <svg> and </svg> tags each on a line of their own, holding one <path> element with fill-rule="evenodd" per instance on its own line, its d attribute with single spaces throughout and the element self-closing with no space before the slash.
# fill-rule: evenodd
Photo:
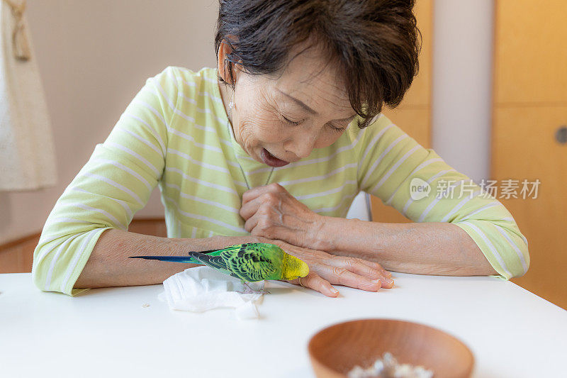
<svg viewBox="0 0 567 378">
<path fill-rule="evenodd" d="M 26 1 L 0 0 L 0 191 L 55 185 L 55 148 Z"/>
</svg>

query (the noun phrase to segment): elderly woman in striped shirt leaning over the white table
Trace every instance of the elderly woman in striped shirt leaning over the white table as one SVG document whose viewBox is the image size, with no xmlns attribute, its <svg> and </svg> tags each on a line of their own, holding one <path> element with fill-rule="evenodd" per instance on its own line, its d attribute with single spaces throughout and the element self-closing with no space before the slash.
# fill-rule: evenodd
<svg viewBox="0 0 567 378">
<path fill-rule="evenodd" d="M 413 3 L 220 1 L 217 67 L 147 80 L 47 218 L 35 284 L 156 284 L 188 265 L 127 257 L 254 241 L 307 262 L 291 283 L 327 296 L 390 288 L 385 269 L 524 273 L 527 242 L 505 207 L 381 114 L 417 72 Z M 411 196 L 415 179 L 429 195 Z M 168 238 L 128 232 L 156 185 Z M 443 185 L 470 193 L 436 195 Z M 345 219 L 359 191 L 416 223 Z"/>
</svg>

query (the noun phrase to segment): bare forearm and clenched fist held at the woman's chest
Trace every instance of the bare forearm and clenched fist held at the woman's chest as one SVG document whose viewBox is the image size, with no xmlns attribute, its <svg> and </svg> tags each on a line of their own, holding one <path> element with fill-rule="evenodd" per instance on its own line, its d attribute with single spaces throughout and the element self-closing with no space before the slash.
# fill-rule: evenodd
<svg viewBox="0 0 567 378">
<path fill-rule="evenodd" d="M 321 216 L 279 184 L 248 191 L 240 213 L 252 235 L 379 262 L 396 272 L 498 274 L 475 240 L 453 223 L 378 223 Z"/>
</svg>

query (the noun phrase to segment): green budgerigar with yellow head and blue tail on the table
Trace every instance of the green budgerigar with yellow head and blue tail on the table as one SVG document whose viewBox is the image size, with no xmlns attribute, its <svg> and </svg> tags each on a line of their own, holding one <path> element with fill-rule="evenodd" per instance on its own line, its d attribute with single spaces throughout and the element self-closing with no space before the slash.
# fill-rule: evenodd
<svg viewBox="0 0 567 378">
<path fill-rule="evenodd" d="M 245 243 L 222 250 L 190 251 L 188 256 L 131 256 L 130 258 L 203 264 L 246 282 L 264 279 L 296 279 L 305 277 L 309 267 L 279 246 L 269 243 Z M 266 291 L 261 291 L 266 292 Z"/>
</svg>

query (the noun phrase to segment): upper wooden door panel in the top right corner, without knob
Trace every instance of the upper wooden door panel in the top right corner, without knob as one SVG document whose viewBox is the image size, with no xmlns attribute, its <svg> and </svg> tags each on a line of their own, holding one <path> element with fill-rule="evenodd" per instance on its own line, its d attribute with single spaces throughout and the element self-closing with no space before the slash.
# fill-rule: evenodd
<svg viewBox="0 0 567 378">
<path fill-rule="evenodd" d="M 495 1 L 495 103 L 567 101 L 567 1 Z"/>
</svg>

